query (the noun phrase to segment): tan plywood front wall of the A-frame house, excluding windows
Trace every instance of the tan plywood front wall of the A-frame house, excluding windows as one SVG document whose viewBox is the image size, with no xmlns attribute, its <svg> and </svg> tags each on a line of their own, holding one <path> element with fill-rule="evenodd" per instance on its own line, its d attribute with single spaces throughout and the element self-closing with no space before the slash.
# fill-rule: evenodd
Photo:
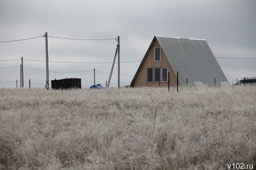
<svg viewBox="0 0 256 170">
<path fill-rule="evenodd" d="M 149 54 L 146 58 L 146 61 L 144 62 L 135 82 L 134 87 L 140 87 L 140 86 L 159 86 L 159 82 L 148 82 L 147 83 L 147 68 L 149 67 L 168 67 L 168 71 L 170 72 L 170 86 L 176 86 L 177 85 L 177 77 L 173 72 L 173 69 L 171 68 L 171 65 L 169 61 L 167 60 L 166 55 L 164 54 L 162 48 L 161 48 L 161 62 L 155 62 L 154 56 L 155 56 L 155 47 L 160 47 L 159 42 L 156 40 L 153 47 L 149 51 Z M 168 86 L 168 82 L 160 82 L 160 86 Z"/>
</svg>

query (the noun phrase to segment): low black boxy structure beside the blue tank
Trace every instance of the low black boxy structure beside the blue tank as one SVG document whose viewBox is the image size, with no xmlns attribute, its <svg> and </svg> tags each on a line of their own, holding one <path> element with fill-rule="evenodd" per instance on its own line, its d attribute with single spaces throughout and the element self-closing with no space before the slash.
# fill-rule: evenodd
<svg viewBox="0 0 256 170">
<path fill-rule="evenodd" d="M 53 89 L 81 88 L 81 78 L 51 80 Z"/>
</svg>

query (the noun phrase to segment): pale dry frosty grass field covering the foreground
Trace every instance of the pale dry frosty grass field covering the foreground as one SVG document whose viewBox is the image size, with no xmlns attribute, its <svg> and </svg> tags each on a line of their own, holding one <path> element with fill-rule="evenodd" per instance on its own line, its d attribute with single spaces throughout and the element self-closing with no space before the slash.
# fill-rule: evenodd
<svg viewBox="0 0 256 170">
<path fill-rule="evenodd" d="M 255 86 L 0 89 L 0 169 L 233 163 L 256 168 Z"/>
</svg>

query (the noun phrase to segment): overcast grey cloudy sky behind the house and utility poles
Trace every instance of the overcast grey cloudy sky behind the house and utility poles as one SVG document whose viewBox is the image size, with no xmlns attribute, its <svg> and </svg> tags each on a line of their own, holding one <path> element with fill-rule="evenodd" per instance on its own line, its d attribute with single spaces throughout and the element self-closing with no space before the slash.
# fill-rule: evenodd
<svg viewBox="0 0 256 170">
<path fill-rule="evenodd" d="M 142 60 L 154 35 L 205 39 L 232 83 L 256 76 L 256 59 L 224 59 L 256 58 L 255 7 L 255 0 L 0 0 L 0 42 L 39 37 L 45 32 L 74 39 L 120 36 L 120 61 L 129 62 L 120 67 L 125 75 L 121 76 L 123 86 L 132 81 L 140 64 L 136 61 Z M 81 78 L 82 87 L 89 87 L 94 83 L 91 70 L 95 68 L 96 84 L 106 84 L 115 40 L 54 37 L 48 37 L 49 61 L 83 63 L 49 62 L 49 80 Z M 15 66 L 21 64 L 21 57 L 24 87 L 29 86 L 29 79 L 32 87 L 44 87 L 46 62 L 40 62 L 46 59 L 44 37 L 0 43 L 0 82 L 7 82 L 0 87 L 16 87 L 20 67 Z M 113 73 L 117 74 L 117 63 Z M 116 75 L 110 84 L 117 86 Z"/>
</svg>

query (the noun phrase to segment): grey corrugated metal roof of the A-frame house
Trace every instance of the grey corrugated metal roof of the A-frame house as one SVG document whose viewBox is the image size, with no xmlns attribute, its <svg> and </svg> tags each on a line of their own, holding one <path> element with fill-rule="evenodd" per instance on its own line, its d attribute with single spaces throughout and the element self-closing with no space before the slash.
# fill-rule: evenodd
<svg viewBox="0 0 256 170">
<path fill-rule="evenodd" d="M 229 84 L 206 40 L 154 36 L 143 57 L 143 62 L 155 40 L 159 42 L 176 76 L 178 71 L 180 85 L 186 85 L 187 78 L 189 82 L 203 82 L 208 85 L 214 85 L 214 78 L 216 78 L 216 85 Z M 142 65 L 143 63 L 137 72 L 140 71 Z M 137 75 L 134 76 L 131 85 L 136 77 Z M 199 85 L 198 83 L 193 84 Z"/>
</svg>

